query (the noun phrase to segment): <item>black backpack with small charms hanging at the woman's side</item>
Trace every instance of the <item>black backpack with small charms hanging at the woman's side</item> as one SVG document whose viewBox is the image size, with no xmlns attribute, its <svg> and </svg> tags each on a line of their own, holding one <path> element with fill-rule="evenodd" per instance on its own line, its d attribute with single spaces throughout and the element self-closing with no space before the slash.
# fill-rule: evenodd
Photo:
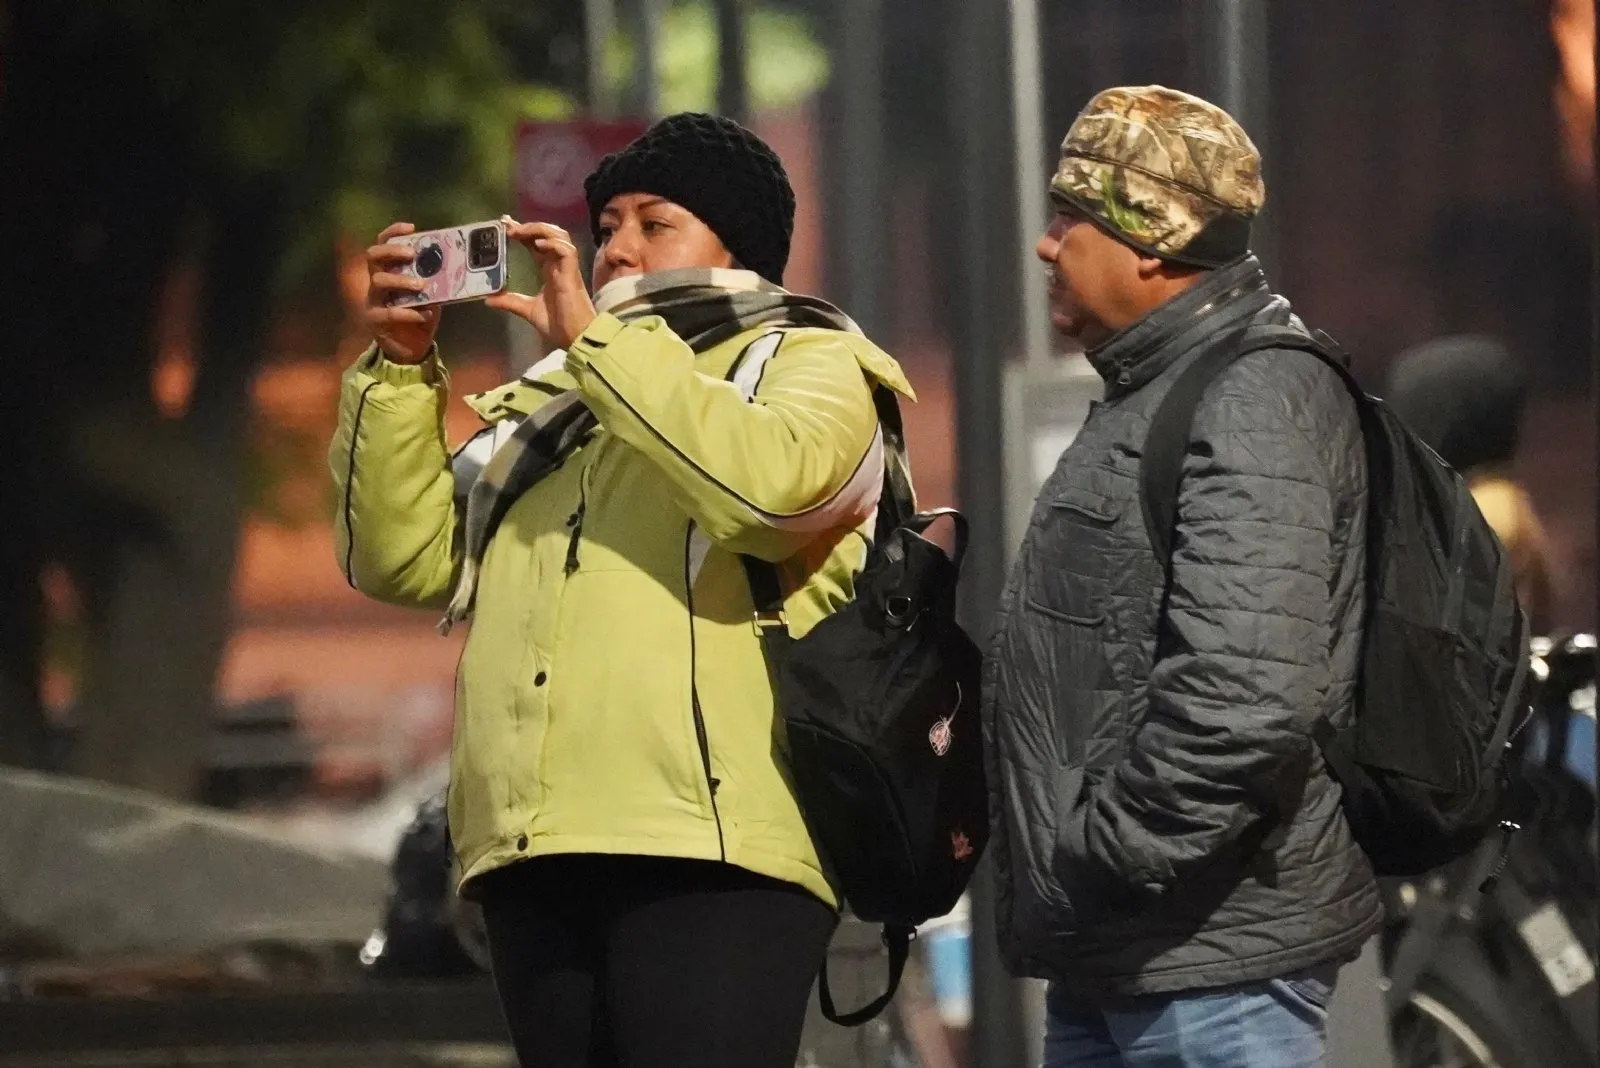
<svg viewBox="0 0 1600 1068">
<path fill-rule="evenodd" d="M 982 654 L 955 622 L 966 520 L 915 512 L 899 404 L 883 387 L 874 401 L 883 492 L 854 600 L 797 640 L 778 571 L 742 558 L 800 811 L 851 913 L 883 924 L 890 950 L 888 990 L 856 1012 L 834 1007 L 822 969 L 822 1014 L 846 1026 L 888 1006 L 917 926 L 955 908 L 989 841 Z M 923 537 L 939 518 L 955 524 L 954 556 Z"/>
</svg>

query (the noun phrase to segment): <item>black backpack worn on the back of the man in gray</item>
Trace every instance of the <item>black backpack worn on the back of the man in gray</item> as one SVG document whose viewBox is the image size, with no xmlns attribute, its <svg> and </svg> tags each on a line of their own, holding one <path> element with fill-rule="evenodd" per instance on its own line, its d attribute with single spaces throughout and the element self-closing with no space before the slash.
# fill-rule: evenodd
<svg viewBox="0 0 1600 1068">
<path fill-rule="evenodd" d="M 1366 619 L 1352 726 L 1317 742 L 1378 875 L 1421 875 L 1501 825 L 1507 750 L 1528 710 L 1528 625 L 1510 561 L 1462 478 L 1381 400 L 1362 392 L 1326 334 L 1234 334 L 1189 365 L 1144 443 L 1146 529 L 1171 569 L 1178 488 L 1205 387 L 1264 349 L 1322 358 L 1355 398 L 1366 443 Z"/>
</svg>

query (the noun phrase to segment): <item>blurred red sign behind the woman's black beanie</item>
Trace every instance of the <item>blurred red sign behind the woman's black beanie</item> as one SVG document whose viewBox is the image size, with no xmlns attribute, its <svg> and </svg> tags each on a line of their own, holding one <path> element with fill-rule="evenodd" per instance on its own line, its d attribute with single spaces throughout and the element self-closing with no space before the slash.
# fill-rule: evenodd
<svg viewBox="0 0 1600 1068">
<path fill-rule="evenodd" d="M 600 158 L 645 133 L 637 120 L 517 123 L 517 217 L 587 232 L 584 179 Z"/>
</svg>

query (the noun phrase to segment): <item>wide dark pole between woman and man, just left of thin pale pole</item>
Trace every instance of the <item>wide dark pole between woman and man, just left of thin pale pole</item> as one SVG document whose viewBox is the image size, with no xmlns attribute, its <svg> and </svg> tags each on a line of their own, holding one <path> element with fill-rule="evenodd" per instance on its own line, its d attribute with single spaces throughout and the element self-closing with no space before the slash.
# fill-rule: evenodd
<svg viewBox="0 0 1600 1068">
<path fill-rule="evenodd" d="M 1006 40 L 998 0 L 952 0 L 949 18 L 950 126 L 957 256 L 955 301 L 955 412 L 958 472 L 957 492 L 971 524 L 971 542 L 962 574 L 962 612 L 982 640 L 1000 598 L 1005 574 L 1005 417 L 1002 376 L 1010 333 L 997 299 L 995 277 L 1014 264 L 1011 225 L 995 227 L 997 190 L 1006 189 L 1011 158 L 995 115 L 1006 112 L 1003 75 Z M 949 11 L 949 8 L 947 8 Z M 1003 217 L 1003 216 L 1000 216 Z M 1006 254 L 994 253 L 997 237 Z M 979 865 L 971 887 L 973 903 L 973 1055 L 978 1068 L 1024 1068 L 1019 985 L 1000 962 L 995 942 L 995 883 L 990 860 Z"/>
</svg>

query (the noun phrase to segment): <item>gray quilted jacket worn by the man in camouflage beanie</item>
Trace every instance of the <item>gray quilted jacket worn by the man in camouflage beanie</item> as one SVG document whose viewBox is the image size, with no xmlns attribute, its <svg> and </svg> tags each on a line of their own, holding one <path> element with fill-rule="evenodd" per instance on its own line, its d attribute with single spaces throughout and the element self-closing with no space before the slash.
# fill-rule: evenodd
<svg viewBox="0 0 1600 1068">
<path fill-rule="evenodd" d="M 1310 731 L 1352 715 L 1366 468 L 1315 357 L 1243 357 L 1195 412 L 1173 582 L 1139 452 L 1178 373 L 1298 323 L 1254 259 L 1090 353 L 1107 382 L 1038 496 L 990 651 L 984 723 L 1000 948 L 1086 999 L 1347 959 L 1382 919 Z"/>
</svg>

